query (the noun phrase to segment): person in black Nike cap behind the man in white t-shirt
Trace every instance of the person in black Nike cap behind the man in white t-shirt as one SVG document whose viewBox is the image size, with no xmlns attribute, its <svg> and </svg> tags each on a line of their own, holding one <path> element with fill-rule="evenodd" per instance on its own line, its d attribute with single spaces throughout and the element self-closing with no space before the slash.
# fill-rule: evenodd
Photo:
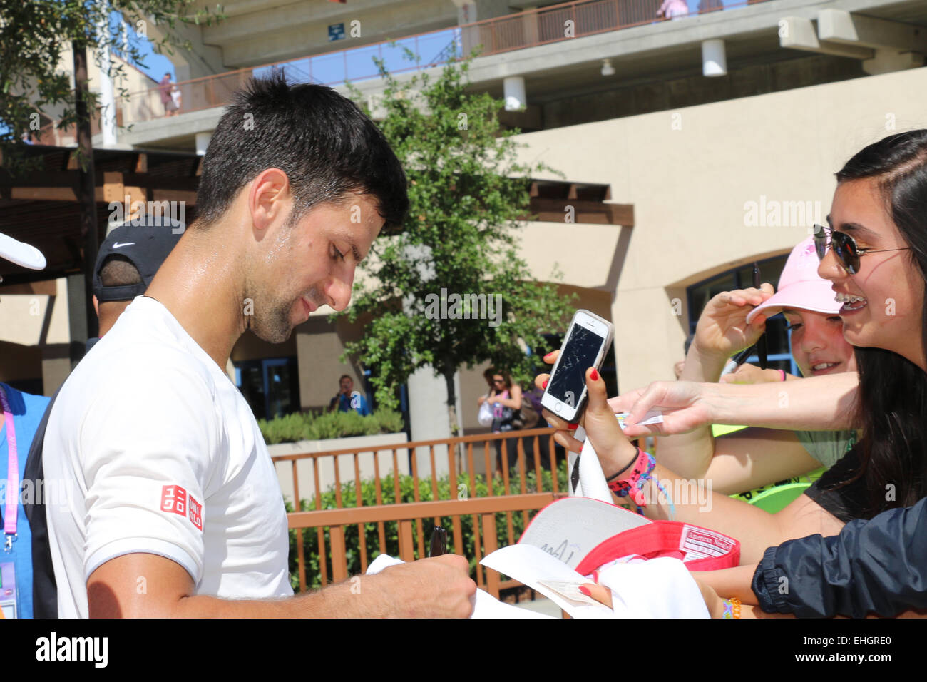
<svg viewBox="0 0 927 682">
<path fill-rule="evenodd" d="M 137 222 L 137 221 L 136 221 Z M 111 230 L 100 244 L 94 265 L 94 310 L 99 320 L 99 336 L 88 339 L 85 353 L 116 324 L 116 320 L 135 296 L 145 293 L 151 279 L 164 263 L 183 229 L 154 219 L 145 225 L 126 223 Z M 33 490 L 44 486 L 45 428 L 55 396 L 44 409 L 42 421 L 35 432 L 29 456 L 26 458 L 24 481 L 31 481 Z M 24 505 L 32 528 L 32 610 L 36 618 L 57 618 L 57 584 L 48 544 L 48 523 L 45 520 L 44 499 L 35 497 Z"/>
</svg>

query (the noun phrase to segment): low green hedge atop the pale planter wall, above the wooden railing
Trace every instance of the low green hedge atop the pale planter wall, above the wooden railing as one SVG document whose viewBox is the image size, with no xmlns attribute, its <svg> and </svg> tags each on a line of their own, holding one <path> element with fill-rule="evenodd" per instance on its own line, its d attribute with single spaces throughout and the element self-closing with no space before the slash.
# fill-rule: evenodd
<svg viewBox="0 0 927 682">
<path fill-rule="evenodd" d="M 397 433 L 403 429 L 402 415 L 390 409 L 379 409 L 366 417 L 354 410 L 322 414 L 295 412 L 269 421 L 258 419 L 258 426 L 264 441 L 269 445 L 346 436 L 372 436 L 376 433 Z"/>
</svg>

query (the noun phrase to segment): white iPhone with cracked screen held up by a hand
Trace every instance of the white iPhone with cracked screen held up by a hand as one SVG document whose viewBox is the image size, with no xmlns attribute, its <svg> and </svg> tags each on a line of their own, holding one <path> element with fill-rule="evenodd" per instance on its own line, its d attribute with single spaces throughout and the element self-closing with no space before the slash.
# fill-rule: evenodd
<svg viewBox="0 0 927 682">
<path fill-rule="evenodd" d="M 578 419 L 586 402 L 586 370 L 602 367 L 614 330 L 610 322 L 588 310 L 573 315 L 541 405 L 566 421 Z"/>
</svg>

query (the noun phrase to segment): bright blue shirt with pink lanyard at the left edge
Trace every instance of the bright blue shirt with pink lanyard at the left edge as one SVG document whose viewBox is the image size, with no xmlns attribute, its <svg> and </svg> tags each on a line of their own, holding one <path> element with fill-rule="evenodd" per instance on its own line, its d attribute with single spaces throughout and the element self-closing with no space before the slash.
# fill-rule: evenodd
<svg viewBox="0 0 927 682">
<path fill-rule="evenodd" d="M 16 427 L 16 453 L 19 459 L 19 481 L 21 482 L 26 470 L 26 457 L 29 455 L 32 437 L 39 427 L 39 422 L 42 421 L 45 407 L 48 406 L 51 398 L 17 391 L 6 384 L 2 386 L 9 400 L 13 425 Z M 13 561 L 16 567 L 16 587 L 19 593 L 17 600 L 19 613 L 17 615 L 19 618 L 32 618 L 32 531 L 29 528 L 29 521 L 26 520 L 26 510 L 22 508 L 22 497 L 19 491 L 8 490 L 9 486 L 6 481 L 8 457 L 9 446 L 6 443 L 6 419 L 4 419 L 3 428 L 0 429 L 0 487 L 2 487 L 0 514 L 6 514 L 6 495 L 19 497 L 19 512 L 16 525 L 18 537 L 13 541 L 13 550 L 8 554 L 0 543 L 0 562 Z M 6 516 L 4 516 L 4 521 L 6 521 Z M 3 538 L 3 542 L 6 542 L 6 538 Z"/>
</svg>

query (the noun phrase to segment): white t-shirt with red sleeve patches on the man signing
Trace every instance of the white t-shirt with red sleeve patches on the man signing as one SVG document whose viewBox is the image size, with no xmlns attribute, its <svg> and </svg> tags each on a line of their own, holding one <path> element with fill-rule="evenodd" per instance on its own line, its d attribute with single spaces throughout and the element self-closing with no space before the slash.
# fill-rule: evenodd
<svg viewBox="0 0 927 682">
<path fill-rule="evenodd" d="M 65 381 L 44 472 L 72 482 L 46 507 L 59 617 L 86 617 L 87 578 L 134 552 L 176 561 L 197 595 L 293 594 L 283 495 L 251 409 L 154 299 L 136 298 Z"/>
</svg>

